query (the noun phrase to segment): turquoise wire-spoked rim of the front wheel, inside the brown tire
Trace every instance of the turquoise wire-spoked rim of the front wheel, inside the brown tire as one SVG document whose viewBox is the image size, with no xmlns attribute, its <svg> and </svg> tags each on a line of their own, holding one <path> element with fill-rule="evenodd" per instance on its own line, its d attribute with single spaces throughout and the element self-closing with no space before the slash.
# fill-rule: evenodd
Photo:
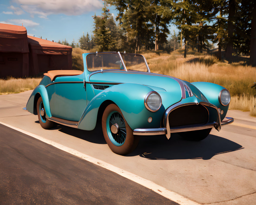
<svg viewBox="0 0 256 205">
<path fill-rule="evenodd" d="M 111 126 L 114 124 L 118 125 L 118 132 L 116 134 L 111 132 Z M 124 144 L 126 139 L 126 127 L 124 119 L 118 111 L 110 112 L 107 117 L 106 128 L 109 139 L 115 146 L 121 146 Z"/>
</svg>

